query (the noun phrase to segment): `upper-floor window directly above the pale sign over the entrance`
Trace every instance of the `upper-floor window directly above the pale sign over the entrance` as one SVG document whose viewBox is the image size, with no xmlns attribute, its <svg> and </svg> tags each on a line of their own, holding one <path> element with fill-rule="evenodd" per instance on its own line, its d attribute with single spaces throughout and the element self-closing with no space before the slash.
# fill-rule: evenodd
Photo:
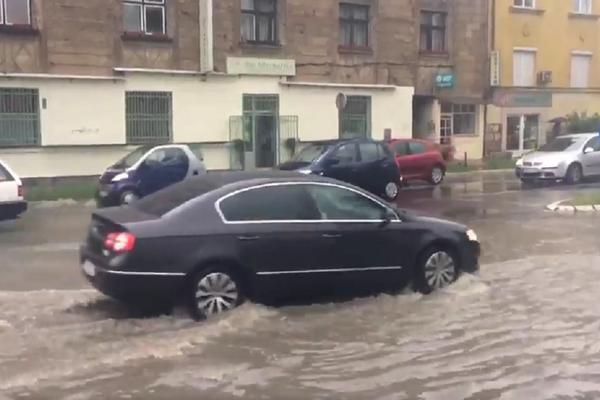
<svg viewBox="0 0 600 400">
<path fill-rule="evenodd" d="M 276 43 L 276 0 L 242 0 L 243 42 Z"/>
</svg>

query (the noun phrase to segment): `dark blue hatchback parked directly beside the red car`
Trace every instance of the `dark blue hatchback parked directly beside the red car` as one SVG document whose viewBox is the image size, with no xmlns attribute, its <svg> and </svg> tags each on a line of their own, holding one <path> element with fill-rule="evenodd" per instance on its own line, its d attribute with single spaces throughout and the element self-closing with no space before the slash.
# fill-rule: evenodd
<svg viewBox="0 0 600 400">
<path fill-rule="evenodd" d="M 279 169 L 334 178 L 388 200 L 398 197 L 402 183 L 392 152 L 384 143 L 369 139 L 313 143 Z"/>
</svg>

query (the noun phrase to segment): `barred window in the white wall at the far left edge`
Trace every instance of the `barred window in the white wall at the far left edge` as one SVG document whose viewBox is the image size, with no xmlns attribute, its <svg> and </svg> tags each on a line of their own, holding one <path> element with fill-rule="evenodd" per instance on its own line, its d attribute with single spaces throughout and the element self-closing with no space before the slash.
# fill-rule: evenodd
<svg viewBox="0 0 600 400">
<path fill-rule="evenodd" d="M 37 89 L 0 88 L 0 147 L 39 145 Z"/>
</svg>

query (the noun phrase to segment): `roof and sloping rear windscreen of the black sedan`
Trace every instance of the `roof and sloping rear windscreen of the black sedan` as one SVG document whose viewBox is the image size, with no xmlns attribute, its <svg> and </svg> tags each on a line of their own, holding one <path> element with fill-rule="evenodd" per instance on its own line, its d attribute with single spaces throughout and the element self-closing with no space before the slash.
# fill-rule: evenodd
<svg viewBox="0 0 600 400">
<path fill-rule="evenodd" d="M 335 182 L 332 179 L 279 170 L 219 171 L 193 177 L 138 200 L 135 208 L 162 216 L 176 207 L 217 190 L 233 192 L 246 187 L 277 182 Z"/>
</svg>

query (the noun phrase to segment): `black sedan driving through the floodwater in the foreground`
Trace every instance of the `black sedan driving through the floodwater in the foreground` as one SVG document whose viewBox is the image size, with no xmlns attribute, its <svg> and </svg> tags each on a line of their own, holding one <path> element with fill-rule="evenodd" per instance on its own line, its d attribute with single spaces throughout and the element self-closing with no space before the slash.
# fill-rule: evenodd
<svg viewBox="0 0 600 400">
<path fill-rule="evenodd" d="M 97 211 L 84 275 L 123 302 L 193 316 L 250 299 L 366 295 L 413 282 L 429 293 L 478 269 L 475 233 L 410 215 L 352 185 L 285 172 L 210 173 Z"/>
</svg>

